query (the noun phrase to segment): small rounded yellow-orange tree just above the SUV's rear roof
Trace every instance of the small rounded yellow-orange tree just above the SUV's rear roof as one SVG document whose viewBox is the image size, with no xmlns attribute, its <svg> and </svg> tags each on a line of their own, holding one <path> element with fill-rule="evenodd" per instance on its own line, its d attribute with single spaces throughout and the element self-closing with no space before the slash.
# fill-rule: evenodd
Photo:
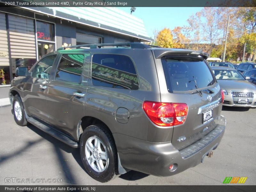
<svg viewBox="0 0 256 192">
<path fill-rule="evenodd" d="M 173 47 L 172 31 L 169 28 L 164 28 L 163 30 L 158 32 L 156 36 L 156 45 L 165 48 Z"/>
</svg>

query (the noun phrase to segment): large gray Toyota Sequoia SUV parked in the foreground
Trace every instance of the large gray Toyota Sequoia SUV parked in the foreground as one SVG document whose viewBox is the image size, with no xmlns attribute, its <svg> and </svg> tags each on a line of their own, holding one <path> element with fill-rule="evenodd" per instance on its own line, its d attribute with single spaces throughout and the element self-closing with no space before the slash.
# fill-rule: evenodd
<svg viewBox="0 0 256 192">
<path fill-rule="evenodd" d="M 174 175 L 211 157 L 225 131 L 207 56 L 140 43 L 61 48 L 17 68 L 14 120 L 80 147 L 100 182 L 130 170 Z"/>
</svg>

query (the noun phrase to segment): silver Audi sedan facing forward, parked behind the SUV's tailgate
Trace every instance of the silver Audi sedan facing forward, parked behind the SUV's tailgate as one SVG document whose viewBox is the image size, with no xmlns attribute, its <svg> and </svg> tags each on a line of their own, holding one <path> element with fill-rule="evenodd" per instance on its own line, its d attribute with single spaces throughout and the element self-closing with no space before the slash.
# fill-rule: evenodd
<svg viewBox="0 0 256 192">
<path fill-rule="evenodd" d="M 256 108 L 256 86 L 233 68 L 212 67 L 212 71 L 224 91 L 225 106 Z"/>
</svg>

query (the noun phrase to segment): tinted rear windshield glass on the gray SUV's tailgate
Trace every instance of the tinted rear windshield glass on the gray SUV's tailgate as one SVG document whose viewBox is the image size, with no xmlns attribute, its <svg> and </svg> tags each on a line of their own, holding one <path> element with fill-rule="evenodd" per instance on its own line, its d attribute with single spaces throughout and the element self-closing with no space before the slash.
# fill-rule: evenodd
<svg viewBox="0 0 256 192">
<path fill-rule="evenodd" d="M 191 91 L 211 86 L 214 77 L 200 58 L 168 57 L 162 59 L 168 91 Z"/>
</svg>

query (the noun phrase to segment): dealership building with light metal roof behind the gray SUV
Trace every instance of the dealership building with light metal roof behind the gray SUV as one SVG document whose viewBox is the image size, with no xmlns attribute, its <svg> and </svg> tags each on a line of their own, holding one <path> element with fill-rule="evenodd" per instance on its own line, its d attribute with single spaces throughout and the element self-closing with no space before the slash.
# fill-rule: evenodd
<svg viewBox="0 0 256 192">
<path fill-rule="evenodd" d="M 0 7 L 0 99 L 17 67 L 62 46 L 150 41 L 141 19 L 115 7 Z"/>
</svg>

